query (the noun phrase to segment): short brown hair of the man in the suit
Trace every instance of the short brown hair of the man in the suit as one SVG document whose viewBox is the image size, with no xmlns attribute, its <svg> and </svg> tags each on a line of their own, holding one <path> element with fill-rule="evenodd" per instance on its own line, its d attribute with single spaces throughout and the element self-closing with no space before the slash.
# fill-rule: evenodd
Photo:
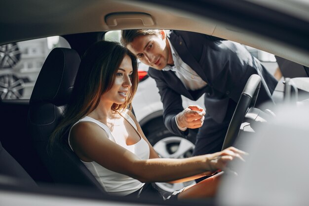
<svg viewBox="0 0 309 206">
<path fill-rule="evenodd" d="M 123 46 L 127 46 L 131 43 L 134 38 L 142 35 L 159 35 L 160 30 L 158 29 L 131 29 L 131 30 L 122 30 L 120 42 Z"/>
</svg>

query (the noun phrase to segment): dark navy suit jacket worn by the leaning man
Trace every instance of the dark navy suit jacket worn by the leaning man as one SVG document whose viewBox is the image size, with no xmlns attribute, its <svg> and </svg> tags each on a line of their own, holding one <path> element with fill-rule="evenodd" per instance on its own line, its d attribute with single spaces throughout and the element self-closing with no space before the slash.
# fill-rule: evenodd
<svg viewBox="0 0 309 206">
<path fill-rule="evenodd" d="M 197 100 L 205 93 L 206 112 L 221 123 L 229 100 L 237 103 L 248 78 L 258 74 L 262 82 L 256 105 L 271 101 L 277 81 L 239 43 L 182 31 L 172 31 L 169 40 L 180 58 L 207 82 L 206 87 L 189 91 L 173 71 L 149 69 L 148 74 L 154 78 L 161 95 L 164 123 L 171 132 L 183 136 L 188 134 L 188 129 L 180 131 L 175 122 L 175 116 L 184 109 L 181 95 Z"/>
</svg>

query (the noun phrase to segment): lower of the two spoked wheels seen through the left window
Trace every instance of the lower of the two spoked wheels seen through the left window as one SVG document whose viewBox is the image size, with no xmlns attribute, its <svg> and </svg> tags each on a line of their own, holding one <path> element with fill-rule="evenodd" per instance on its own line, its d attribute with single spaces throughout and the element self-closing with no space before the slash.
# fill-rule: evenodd
<svg viewBox="0 0 309 206">
<path fill-rule="evenodd" d="M 23 96 L 25 83 L 12 74 L 0 76 L 1 99 L 19 99 Z"/>
</svg>

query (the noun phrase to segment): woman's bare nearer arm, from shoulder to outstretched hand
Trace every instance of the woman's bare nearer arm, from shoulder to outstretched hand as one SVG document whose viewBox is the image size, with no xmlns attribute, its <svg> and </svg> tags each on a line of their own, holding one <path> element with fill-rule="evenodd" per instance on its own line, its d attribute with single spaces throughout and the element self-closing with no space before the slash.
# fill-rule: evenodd
<svg viewBox="0 0 309 206">
<path fill-rule="evenodd" d="M 81 122 L 72 128 L 70 140 L 82 161 L 95 161 L 141 182 L 168 182 L 191 177 L 205 171 L 224 169 L 227 162 L 241 158 L 241 151 L 233 148 L 186 159 L 141 160 L 107 137 L 107 133 L 97 124 Z"/>
</svg>

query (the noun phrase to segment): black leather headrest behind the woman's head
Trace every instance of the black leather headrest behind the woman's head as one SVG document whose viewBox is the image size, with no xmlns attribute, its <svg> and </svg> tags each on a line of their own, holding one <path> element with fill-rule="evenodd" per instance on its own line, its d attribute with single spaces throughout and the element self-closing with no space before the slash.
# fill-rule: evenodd
<svg viewBox="0 0 309 206">
<path fill-rule="evenodd" d="M 70 48 L 54 48 L 42 66 L 30 101 L 67 104 L 79 64 L 77 51 Z"/>
</svg>

